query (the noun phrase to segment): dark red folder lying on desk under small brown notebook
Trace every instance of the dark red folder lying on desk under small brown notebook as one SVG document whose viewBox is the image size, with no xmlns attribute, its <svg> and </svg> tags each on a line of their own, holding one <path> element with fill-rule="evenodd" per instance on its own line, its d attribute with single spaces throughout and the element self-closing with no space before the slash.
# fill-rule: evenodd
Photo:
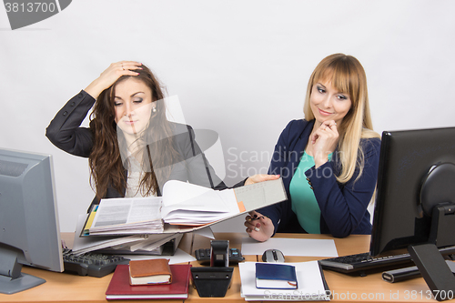
<svg viewBox="0 0 455 303">
<path fill-rule="evenodd" d="M 131 286 L 128 265 L 117 265 L 106 290 L 106 299 L 188 298 L 191 265 L 174 264 L 170 268 L 171 284 Z"/>
</svg>

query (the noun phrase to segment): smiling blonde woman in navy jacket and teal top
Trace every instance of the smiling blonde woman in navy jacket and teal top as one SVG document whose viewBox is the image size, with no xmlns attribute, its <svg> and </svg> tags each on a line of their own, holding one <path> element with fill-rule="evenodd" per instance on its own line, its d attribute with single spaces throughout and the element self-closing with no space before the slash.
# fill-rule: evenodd
<svg viewBox="0 0 455 303">
<path fill-rule="evenodd" d="M 276 232 L 370 234 L 367 207 L 376 188 L 380 136 L 372 130 L 367 77 L 353 56 L 324 58 L 309 78 L 305 119 L 293 120 L 278 138 L 269 175 L 283 178 L 288 200 L 246 218 L 250 237 Z M 273 175 L 273 176 L 270 176 Z"/>
</svg>

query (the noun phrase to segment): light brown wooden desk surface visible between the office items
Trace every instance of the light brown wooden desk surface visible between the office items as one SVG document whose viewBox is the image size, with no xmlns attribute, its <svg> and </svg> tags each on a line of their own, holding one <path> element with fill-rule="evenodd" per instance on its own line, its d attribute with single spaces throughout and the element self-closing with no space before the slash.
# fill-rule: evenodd
<svg viewBox="0 0 455 303">
<path fill-rule="evenodd" d="M 248 237 L 246 233 L 216 233 L 217 239 L 229 240 L 230 247 L 241 247 L 241 238 Z M 71 233 L 62 235 L 68 247 L 72 245 Z M 276 237 L 304 237 L 304 238 L 333 238 L 326 235 L 295 235 L 278 234 Z M 339 256 L 368 251 L 369 236 L 349 236 L 335 238 Z M 194 255 L 194 250 L 210 247 L 210 239 L 191 234 L 183 237 L 179 247 Z M 279 247 L 277 247 L 279 248 Z M 257 261 L 260 256 L 244 256 L 246 261 Z M 319 258 L 286 257 L 287 262 L 301 262 Z M 198 266 L 193 262 L 193 266 Z M 25 273 L 45 278 L 45 284 L 25 290 L 14 295 L 0 294 L 0 302 L 106 302 L 105 292 L 112 274 L 103 278 L 79 277 L 73 274 L 55 273 L 36 268 L 24 268 Z M 429 288 L 423 278 L 415 278 L 405 282 L 390 284 L 382 281 L 380 273 L 367 277 L 350 277 L 337 272 L 324 270 L 326 280 L 334 297 L 332 301 L 342 302 L 437 302 L 427 298 Z M 157 300 L 154 300 L 157 302 Z M 163 302 L 181 302 L 182 300 L 163 300 Z M 185 302 L 243 302 L 240 297 L 240 276 L 238 267 L 234 274 L 230 288 L 225 298 L 199 298 L 197 290 L 190 286 L 188 298 Z M 455 300 L 451 300 L 455 301 Z M 120 302 L 137 302 L 126 301 Z"/>
</svg>

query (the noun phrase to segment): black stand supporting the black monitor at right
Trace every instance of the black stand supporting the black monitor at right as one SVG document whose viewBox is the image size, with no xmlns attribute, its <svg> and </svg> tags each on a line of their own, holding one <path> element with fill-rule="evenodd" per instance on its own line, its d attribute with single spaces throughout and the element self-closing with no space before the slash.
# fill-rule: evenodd
<svg viewBox="0 0 455 303">
<path fill-rule="evenodd" d="M 449 204 L 434 207 L 431 216 L 431 243 L 408 247 L 410 257 L 438 301 L 455 298 L 455 276 L 438 249 L 450 243 L 453 245 L 454 208 Z"/>
</svg>

